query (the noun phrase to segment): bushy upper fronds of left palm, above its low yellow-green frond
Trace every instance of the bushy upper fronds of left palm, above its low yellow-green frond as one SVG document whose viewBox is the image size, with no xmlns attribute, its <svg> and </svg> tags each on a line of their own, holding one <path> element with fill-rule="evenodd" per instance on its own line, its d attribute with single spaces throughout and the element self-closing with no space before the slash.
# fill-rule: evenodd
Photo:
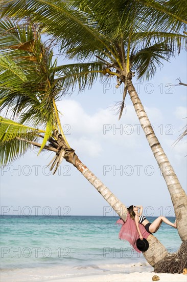
<svg viewBox="0 0 187 282">
<path fill-rule="evenodd" d="M 12 30 L 16 30 L 15 42 Z M 55 104 L 62 90 L 58 79 L 55 79 L 57 61 L 53 61 L 51 45 L 41 42 L 40 27 L 29 26 L 29 21 L 26 24 L 21 23 L 21 26 L 14 26 L 14 23 L 9 21 L 3 26 L 2 37 L 2 62 L 9 59 L 8 63 L 11 62 L 13 67 L 10 68 L 10 63 L 1 66 L 0 109 L 10 107 L 13 118 L 18 115 L 21 124 L 29 122 L 33 126 L 45 126 L 41 151 L 54 129 L 63 135 Z M 10 50 L 9 56 L 7 50 Z M 58 71 L 60 69 L 62 68 L 58 68 Z M 13 74 L 8 76 L 9 71 Z"/>
</svg>

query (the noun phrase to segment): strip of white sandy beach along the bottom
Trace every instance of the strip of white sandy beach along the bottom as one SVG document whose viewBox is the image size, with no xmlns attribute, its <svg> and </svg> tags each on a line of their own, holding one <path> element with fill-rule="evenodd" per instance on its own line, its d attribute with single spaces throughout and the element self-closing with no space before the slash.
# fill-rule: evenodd
<svg viewBox="0 0 187 282">
<path fill-rule="evenodd" d="M 153 275 L 159 276 L 160 282 L 186 282 L 187 280 L 187 275 L 155 273 L 147 264 L 142 266 L 135 264 L 102 265 L 99 268 L 96 266 L 17 268 L 2 271 L 1 282 L 146 282 L 152 281 Z"/>
</svg>

